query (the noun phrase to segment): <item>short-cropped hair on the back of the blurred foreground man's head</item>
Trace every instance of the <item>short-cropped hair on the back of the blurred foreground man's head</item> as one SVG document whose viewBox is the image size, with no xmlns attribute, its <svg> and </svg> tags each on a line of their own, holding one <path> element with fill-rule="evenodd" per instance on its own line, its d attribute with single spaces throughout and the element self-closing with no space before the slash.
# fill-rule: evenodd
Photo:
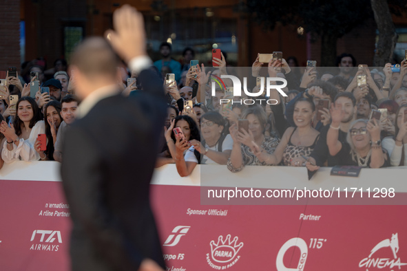
<svg viewBox="0 0 407 271">
<path fill-rule="evenodd" d="M 92 37 L 76 46 L 71 64 L 87 77 L 112 76 L 116 78 L 118 58 L 105 39 Z"/>
</svg>

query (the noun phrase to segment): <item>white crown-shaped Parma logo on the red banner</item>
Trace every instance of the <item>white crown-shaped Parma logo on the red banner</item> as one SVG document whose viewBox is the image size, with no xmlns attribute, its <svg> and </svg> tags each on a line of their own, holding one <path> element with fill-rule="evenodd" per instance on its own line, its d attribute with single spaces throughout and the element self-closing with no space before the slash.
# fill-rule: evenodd
<svg viewBox="0 0 407 271">
<path fill-rule="evenodd" d="M 231 235 L 227 235 L 225 240 L 223 236 L 218 237 L 218 243 L 211 241 L 211 254 L 207 253 L 207 262 L 211 268 L 216 270 L 225 270 L 235 265 L 240 255 L 238 252 L 243 247 L 243 242 L 238 243 L 238 237 L 231 240 Z M 216 263 L 213 263 L 216 262 Z"/>
</svg>

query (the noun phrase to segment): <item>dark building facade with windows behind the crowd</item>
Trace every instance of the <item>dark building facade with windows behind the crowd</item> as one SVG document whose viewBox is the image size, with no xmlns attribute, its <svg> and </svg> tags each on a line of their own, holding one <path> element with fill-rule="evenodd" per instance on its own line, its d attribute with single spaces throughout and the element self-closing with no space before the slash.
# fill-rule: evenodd
<svg viewBox="0 0 407 271">
<path fill-rule="evenodd" d="M 0 34 L 0 71 L 35 58 L 43 58 L 46 68 L 57 58 L 69 56 L 85 36 L 101 36 L 112 27 L 112 14 L 129 3 L 143 12 L 148 52 L 158 60 L 161 42 L 173 45 L 173 58 L 182 61 L 182 50 L 192 47 L 196 59 L 209 64 L 211 49 L 227 53 L 229 65 L 251 66 L 258 53 L 282 51 L 295 56 L 300 65 L 320 61 L 320 41 L 298 34 L 301 25 L 278 25 L 273 31 L 254 23 L 240 8 L 240 0 L 20 0 L 3 3 Z M 394 18 L 399 34 L 397 58 L 407 49 L 407 18 Z M 377 32 L 375 21 L 355 28 L 337 43 L 337 53 L 348 52 L 358 63 L 373 63 Z M 400 61 L 400 59 L 396 59 Z"/>
</svg>

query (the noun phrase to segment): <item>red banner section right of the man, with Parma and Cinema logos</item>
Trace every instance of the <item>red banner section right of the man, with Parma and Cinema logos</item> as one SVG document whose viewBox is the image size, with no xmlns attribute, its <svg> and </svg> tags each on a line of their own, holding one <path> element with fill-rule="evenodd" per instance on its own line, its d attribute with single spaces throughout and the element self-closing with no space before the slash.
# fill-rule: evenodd
<svg viewBox="0 0 407 271">
<path fill-rule="evenodd" d="M 169 267 L 407 270 L 407 206 L 203 206 L 199 194 L 196 186 L 152 186 Z"/>
</svg>

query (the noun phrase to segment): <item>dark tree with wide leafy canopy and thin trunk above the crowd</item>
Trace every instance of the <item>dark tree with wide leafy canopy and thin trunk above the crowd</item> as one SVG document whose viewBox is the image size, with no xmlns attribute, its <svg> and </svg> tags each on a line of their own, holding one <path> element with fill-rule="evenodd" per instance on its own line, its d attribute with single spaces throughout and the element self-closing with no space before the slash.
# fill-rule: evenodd
<svg viewBox="0 0 407 271">
<path fill-rule="evenodd" d="M 369 0 L 247 0 L 247 12 L 270 30 L 280 22 L 320 36 L 322 66 L 335 64 L 337 39 L 373 18 Z"/>
</svg>

